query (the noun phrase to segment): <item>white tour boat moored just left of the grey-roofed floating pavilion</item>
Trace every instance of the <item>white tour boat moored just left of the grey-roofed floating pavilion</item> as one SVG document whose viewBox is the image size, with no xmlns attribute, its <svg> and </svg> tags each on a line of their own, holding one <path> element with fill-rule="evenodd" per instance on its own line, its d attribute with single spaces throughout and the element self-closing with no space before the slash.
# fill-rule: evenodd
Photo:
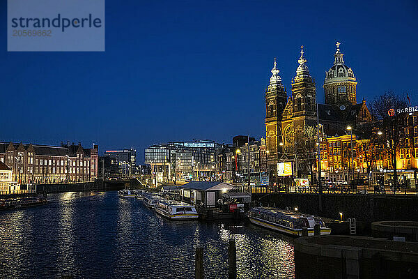
<svg viewBox="0 0 418 279">
<path fill-rule="evenodd" d="M 170 220 L 196 220 L 199 217 L 194 206 L 184 202 L 160 201 L 155 212 Z"/>
</svg>

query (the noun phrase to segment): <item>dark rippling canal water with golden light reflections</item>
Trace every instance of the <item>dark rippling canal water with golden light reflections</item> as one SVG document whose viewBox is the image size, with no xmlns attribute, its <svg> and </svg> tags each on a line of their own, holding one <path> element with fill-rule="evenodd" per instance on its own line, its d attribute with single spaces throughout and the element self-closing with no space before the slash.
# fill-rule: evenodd
<svg viewBox="0 0 418 279">
<path fill-rule="evenodd" d="M 0 212 L 0 278 L 294 278 L 292 239 L 248 223 L 170 221 L 116 192 L 49 195 L 49 204 Z"/>
</svg>

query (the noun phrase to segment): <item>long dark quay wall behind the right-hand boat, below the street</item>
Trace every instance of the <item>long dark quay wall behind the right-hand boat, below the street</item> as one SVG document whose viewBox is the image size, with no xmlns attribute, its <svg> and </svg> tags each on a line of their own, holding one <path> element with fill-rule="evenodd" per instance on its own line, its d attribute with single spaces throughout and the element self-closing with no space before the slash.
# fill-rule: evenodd
<svg viewBox="0 0 418 279">
<path fill-rule="evenodd" d="M 280 209 L 297 207 L 298 211 L 312 215 L 343 220 L 355 218 L 363 222 L 380 220 L 418 220 L 417 195 L 340 195 L 340 194 L 253 194 L 258 205 Z"/>
</svg>

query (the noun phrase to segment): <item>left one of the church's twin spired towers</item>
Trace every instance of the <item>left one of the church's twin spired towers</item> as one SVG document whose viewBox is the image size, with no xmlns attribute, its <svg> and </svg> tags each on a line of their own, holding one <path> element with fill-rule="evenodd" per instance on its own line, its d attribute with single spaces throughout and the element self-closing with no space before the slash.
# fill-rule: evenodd
<svg viewBox="0 0 418 279">
<path fill-rule="evenodd" d="M 277 158 L 277 146 L 281 142 L 281 114 L 286 105 L 287 94 L 281 83 L 276 59 L 272 68 L 270 84 L 265 90 L 265 138 L 270 158 Z"/>
</svg>

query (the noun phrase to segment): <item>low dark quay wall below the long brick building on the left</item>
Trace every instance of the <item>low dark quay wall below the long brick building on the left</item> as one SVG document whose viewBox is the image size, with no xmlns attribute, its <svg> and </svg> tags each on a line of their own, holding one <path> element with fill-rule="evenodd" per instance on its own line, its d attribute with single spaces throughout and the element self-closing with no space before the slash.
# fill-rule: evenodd
<svg viewBox="0 0 418 279">
<path fill-rule="evenodd" d="M 79 183 L 38 184 L 36 186 L 36 193 L 64 193 L 64 192 L 79 192 L 79 191 L 121 190 L 125 188 L 126 184 L 127 182 L 125 181 L 102 181 L 102 180 L 96 180 L 94 182 L 79 182 Z"/>
</svg>

